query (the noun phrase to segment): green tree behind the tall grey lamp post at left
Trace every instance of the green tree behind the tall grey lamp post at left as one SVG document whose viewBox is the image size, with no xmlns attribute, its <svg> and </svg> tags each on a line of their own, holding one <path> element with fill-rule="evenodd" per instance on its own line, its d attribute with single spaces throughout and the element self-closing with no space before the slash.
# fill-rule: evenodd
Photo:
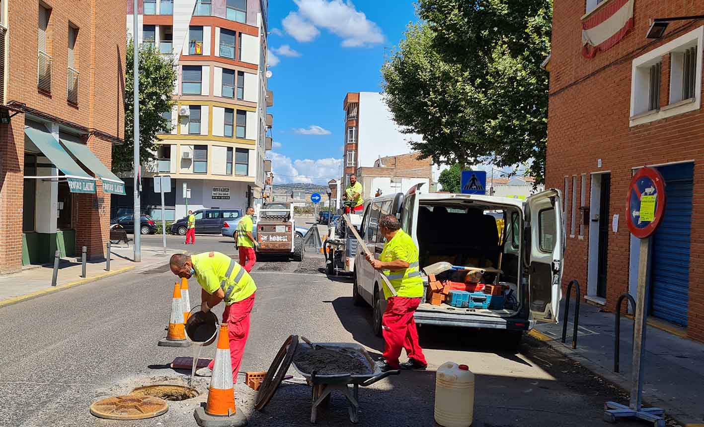
<svg viewBox="0 0 704 427">
<path fill-rule="evenodd" d="M 113 146 L 113 171 L 134 169 L 134 63 L 132 40 L 127 46 L 125 77 L 125 143 Z M 171 131 L 171 122 L 162 114 L 171 111 L 176 71 L 172 58 L 161 55 L 151 46 L 139 48 L 139 160 L 145 164 L 155 159 L 158 133 Z"/>
</svg>

